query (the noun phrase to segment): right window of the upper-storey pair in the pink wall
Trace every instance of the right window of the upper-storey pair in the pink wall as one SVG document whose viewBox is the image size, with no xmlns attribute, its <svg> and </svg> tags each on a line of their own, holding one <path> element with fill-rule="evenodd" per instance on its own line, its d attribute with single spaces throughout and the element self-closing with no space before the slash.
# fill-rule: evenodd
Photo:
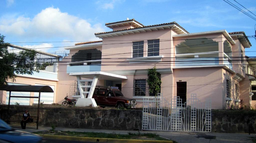
<svg viewBox="0 0 256 143">
<path fill-rule="evenodd" d="M 159 39 L 147 40 L 147 56 L 159 56 Z"/>
</svg>

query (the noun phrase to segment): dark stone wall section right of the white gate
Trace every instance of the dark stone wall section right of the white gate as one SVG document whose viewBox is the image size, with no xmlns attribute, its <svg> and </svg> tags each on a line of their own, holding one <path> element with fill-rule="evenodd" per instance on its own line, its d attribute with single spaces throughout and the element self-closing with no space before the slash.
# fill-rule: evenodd
<svg viewBox="0 0 256 143">
<path fill-rule="evenodd" d="M 256 133 L 256 111 L 212 110 L 212 132 Z"/>
</svg>

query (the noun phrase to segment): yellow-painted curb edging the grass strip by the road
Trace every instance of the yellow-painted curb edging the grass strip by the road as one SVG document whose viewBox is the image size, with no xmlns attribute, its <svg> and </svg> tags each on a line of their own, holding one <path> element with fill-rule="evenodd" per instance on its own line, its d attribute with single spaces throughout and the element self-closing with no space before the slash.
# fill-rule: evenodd
<svg viewBox="0 0 256 143">
<path fill-rule="evenodd" d="M 77 137 L 77 136 L 58 136 L 58 135 L 45 135 L 38 134 L 48 139 L 59 139 L 59 140 L 74 140 L 74 141 L 90 141 L 90 142 L 113 142 L 113 143 L 173 143 L 168 140 L 141 140 L 141 139 L 114 139 L 114 138 L 91 138 L 91 137 Z"/>
</svg>

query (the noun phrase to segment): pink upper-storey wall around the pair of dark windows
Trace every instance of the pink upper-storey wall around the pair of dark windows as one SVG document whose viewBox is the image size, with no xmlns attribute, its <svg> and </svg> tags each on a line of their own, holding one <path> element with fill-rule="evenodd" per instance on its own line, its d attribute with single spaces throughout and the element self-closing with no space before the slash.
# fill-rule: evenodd
<svg viewBox="0 0 256 143">
<path fill-rule="evenodd" d="M 103 38 L 102 53 L 104 54 L 116 54 L 111 56 L 103 55 L 102 58 L 132 58 L 132 42 L 144 40 L 144 57 L 147 56 L 147 40 L 151 39 L 171 39 L 171 30 L 158 30 L 152 32 L 141 32 L 136 34 L 122 35 Z M 125 40 L 125 41 L 111 41 L 111 40 Z M 119 44 L 116 44 L 119 43 Z M 123 44 L 124 43 L 124 44 Z M 171 57 L 170 48 L 171 41 L 160 42 L 159 55 L 164 55 L 164 57 Z M 168 48 L 168 49 L 165 49 Z M 163 50 L 161 50 L 163 49 Z M 126 59 L 115 59 L 114 63 L 108 63 L 107 60 L 102 60 L 107 63 L 102 63 L 101 70 L 132 70 L 132 69 L 148 69 L 152 68 L 157 63 L 142 63 L 141 65 L 132 65 L 129 63 L 123 63 Z M 127 62 L 127 61 L 126 61 Z M 115 64 L 112 66 L 104 66 L 106 64 Z M 125 65 L 116 65 L 125 64 Z M 170 68 L 170 66 L 156 65 L 156 68 Z"/>
</svg>

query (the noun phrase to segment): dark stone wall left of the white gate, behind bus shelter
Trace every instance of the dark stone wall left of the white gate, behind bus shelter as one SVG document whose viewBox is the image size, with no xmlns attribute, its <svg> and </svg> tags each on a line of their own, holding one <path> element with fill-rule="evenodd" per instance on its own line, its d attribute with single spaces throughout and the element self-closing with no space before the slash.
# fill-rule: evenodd
<svg viewBox="0 0 256 143">
<path fill-rule="evenodd" d="M 1 119 L 7 120 L 8 105 L 1 105 Z M 23 115 L 28 109 L 37 116 L 37 106 L 11 105 L 10 115 Z M 95 128 L 110 130 L 141 130 L 142 111 L 80 107 L 40 107 L 39 125 Z"/>
</svg>

